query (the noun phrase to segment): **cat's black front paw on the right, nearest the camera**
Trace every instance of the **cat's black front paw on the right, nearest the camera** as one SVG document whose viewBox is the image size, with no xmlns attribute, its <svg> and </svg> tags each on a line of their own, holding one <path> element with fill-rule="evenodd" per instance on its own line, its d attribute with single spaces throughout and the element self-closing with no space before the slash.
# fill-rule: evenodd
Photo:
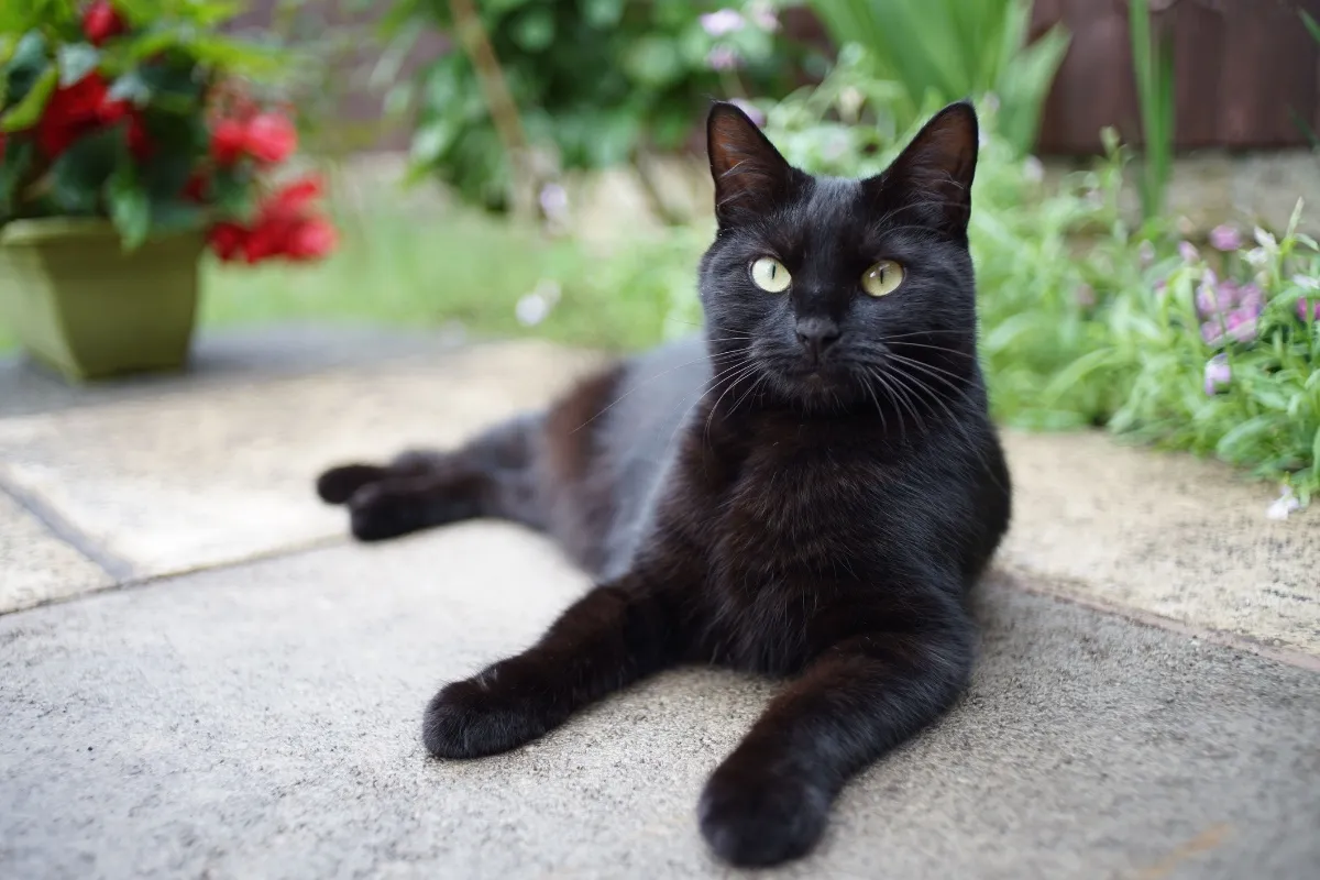
<svg viewBox="0 0 1320 880">
<path fill-rule="evenodd" d="M 734 760 L 719 767 L 697 807 L 701 835 L 725 862 L 772 865 L 810 851 L 825 831 L 830 797 L 805 774 Z"/>
</svg>

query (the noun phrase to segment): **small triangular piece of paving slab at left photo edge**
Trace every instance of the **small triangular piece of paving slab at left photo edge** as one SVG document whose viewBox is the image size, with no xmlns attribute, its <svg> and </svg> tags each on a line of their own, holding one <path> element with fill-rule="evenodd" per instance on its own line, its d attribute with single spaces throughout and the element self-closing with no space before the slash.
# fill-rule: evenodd
<svg viewBox="0 0 1320 880">
<path fill-rule="evenodd" d="M 0 613 L 114 582 L 0 489 Z"/>
</svg>

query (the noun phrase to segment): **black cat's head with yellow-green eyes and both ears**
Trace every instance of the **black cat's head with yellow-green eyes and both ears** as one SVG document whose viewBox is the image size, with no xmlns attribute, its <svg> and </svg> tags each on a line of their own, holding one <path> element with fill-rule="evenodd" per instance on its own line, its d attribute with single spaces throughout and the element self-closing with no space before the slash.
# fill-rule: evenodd
<svg viewBox="0 0 1320 880">
<path fill-rule="evenodd" d="M 970 104 L 861 181 L 792 168 L 733 104 L 714 106 L 706 136 L 719 232 L 701 299 L 717 376 L 805 409 L 911 412 L 977 375 Z"/>
</svg>

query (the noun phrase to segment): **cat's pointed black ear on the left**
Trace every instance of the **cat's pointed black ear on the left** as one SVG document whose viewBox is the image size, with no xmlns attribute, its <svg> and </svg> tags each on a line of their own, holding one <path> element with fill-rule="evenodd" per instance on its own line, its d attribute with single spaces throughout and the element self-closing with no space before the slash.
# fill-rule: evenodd
<svg viewBox="0 0 1320 880">
<path fill-rule="evenodd" d="M 735 226 L 739 219 L 781 203 L 801 175 L 734 104 L 717 103 L 710 108 L 706 152 L 721 227 Z"/>
</svg>

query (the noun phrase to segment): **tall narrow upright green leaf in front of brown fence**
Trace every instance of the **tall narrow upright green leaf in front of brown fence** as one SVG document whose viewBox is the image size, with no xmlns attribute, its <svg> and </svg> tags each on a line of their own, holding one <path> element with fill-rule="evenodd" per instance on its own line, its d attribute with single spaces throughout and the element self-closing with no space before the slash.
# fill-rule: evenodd
<svg viewBox="0 0 1320 880">
<path fill-rule="evenodd" d="M 1173 168 L 1173 47 L 1167 36 L 1152 33 L 1150 0 L 1129 1 L 1127 28 L 1144 142 L 1138 190 L 1142 214 L 1150 219 L 1164 210 Z"/>
</svg>

